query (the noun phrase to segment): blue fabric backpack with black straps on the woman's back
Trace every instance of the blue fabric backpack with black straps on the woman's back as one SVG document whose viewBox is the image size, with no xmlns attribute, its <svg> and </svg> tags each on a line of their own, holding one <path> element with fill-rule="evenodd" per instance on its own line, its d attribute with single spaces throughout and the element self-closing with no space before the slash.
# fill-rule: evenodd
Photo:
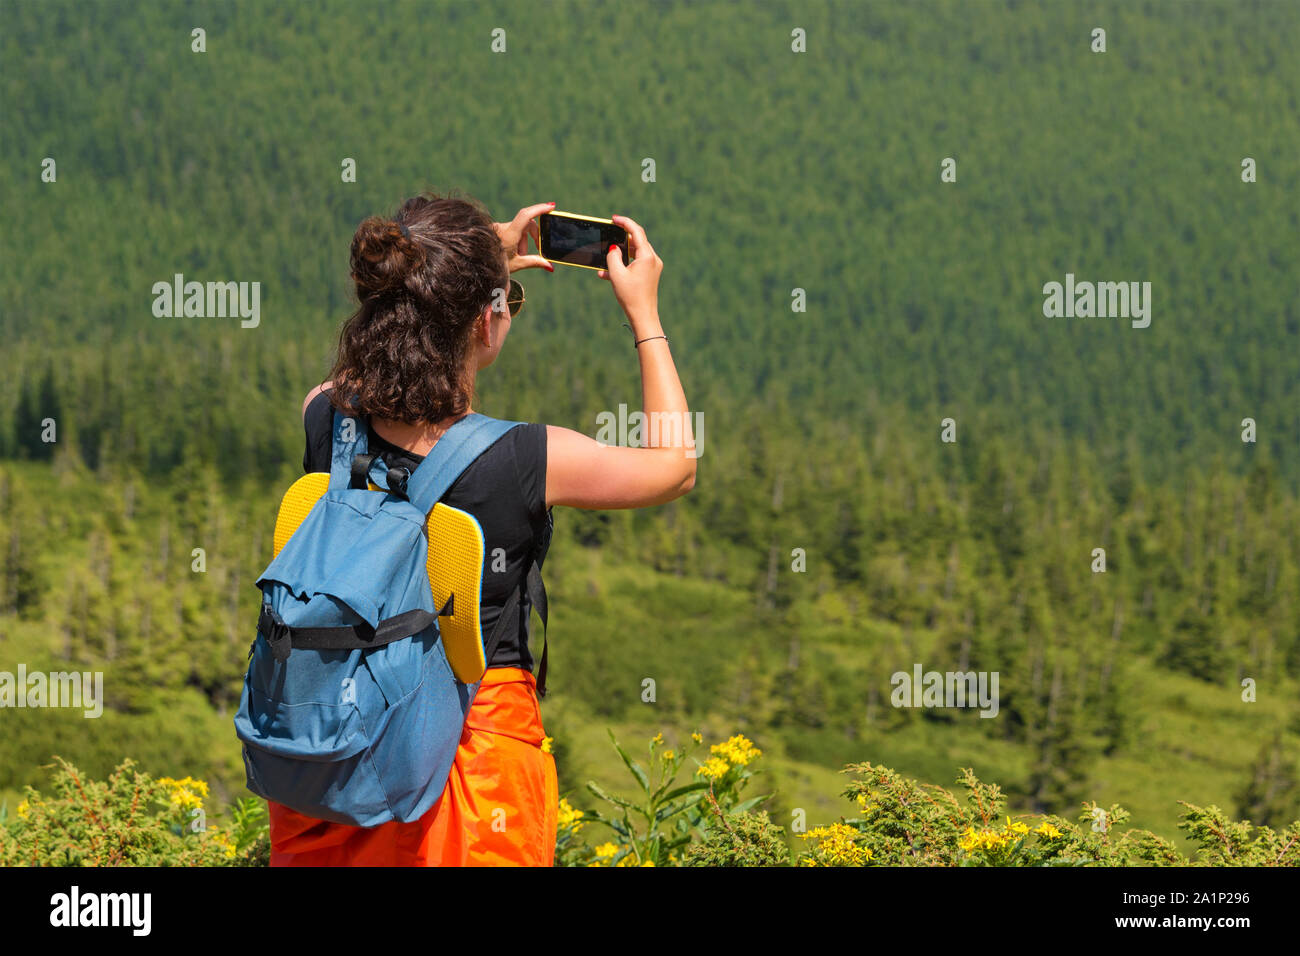
<svg viewBox="0 0 1300 956">
<path fill-rule="evenodd" d="M 458 680 L 439 639 L 438 618 L 454 613 L 455 594 L 434 606 L 426 519 L 462 472 L 519 424 L 468 415 L 408 475 L 368 455 L 365 425 L 335 411 L 328 490 L 257 580 L 263 606 L 234 721 L 254 793 L 364 827 L 417 819 L 437 803 L 482 672 L 474 683 Z M 312 477 L 320 493 L 324 475 L 299 483 Z M 478 581 L 481 574 L 480 554 Z M 540 584 L 533 563 L 528 592 L 545 627 Z M 519 592 L 481 649 L 484 662 L 517 615 Z M 477 591 L 472 597 L 481 644 Z"/>
</svg>

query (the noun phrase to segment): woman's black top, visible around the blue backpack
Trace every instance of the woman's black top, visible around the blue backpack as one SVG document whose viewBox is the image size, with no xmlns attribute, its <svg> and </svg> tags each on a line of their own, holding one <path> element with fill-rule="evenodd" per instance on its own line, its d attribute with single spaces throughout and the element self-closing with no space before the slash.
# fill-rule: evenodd
<svg viewBox="0 0 1300 956">
<path fill-rule="evenodd" d="M 334 408 L 328 390 L 307 406 L 303 419 L 307 449 L 303 471 L 329 471 L 334 442 Z M 424 455 L 385 441 L 367 423 L 369 451 L 391 468 L 415 471 Z M 546 425 L 512 428 L 474 460 L 442 496 L 451 507 L 468 511 L 484 531 L 484 583 L 478 622 L 488 643 L 511 593 L 519 589 L 530 558 L 538 566 L 550 544 L 551 514 L 546 507 Z M 528 646 L 529 605 L 519 604 L 519 620 L 507 623 L 488 662 L 489 667 L 533 669 Z"/>
</svg>

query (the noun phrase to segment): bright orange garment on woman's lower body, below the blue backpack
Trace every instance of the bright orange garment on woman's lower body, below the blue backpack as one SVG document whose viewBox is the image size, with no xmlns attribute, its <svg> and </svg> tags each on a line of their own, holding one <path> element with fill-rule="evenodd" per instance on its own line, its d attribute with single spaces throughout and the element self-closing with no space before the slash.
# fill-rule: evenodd
<svg viewBox="0 0 1300 956">
<path fill-rule="evenodd" d="M 356 827 L 270 810 L 272 866 L 551 866 L 559 787 L 542 750 L 537 680 L 521 667 L 484 675 L 447 788 L 410 823 Z"/>
</svg>

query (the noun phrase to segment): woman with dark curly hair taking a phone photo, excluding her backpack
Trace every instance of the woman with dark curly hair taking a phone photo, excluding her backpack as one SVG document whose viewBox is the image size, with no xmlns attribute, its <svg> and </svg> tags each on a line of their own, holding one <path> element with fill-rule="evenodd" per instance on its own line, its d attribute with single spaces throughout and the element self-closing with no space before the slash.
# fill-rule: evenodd
<svg viewBox="0 0 1300 956">
<path fill-rule="evenodd" d="M 422 195 L 391 220 L 372 217 L 352 238 L 360 308 L 339 336 L 332 380 L 303 402 L 303 468 L 329 471 L 333 407 L 369 421 L 369 447 L 408 471 L 468 415 L 480 369 L 500 354 L 521 302 L 510 274 L 554 268 L 528 254 L 536 217 L 528 206 L 493 222 L 472 200 Z M 689 421 L 686 398 L 659 324 L 663 261 L 645 230 L 625 216 L 633 261 L 611 246 L 597 274 L 614 286 L 641 363 L 646 415 Z M 354 407 L 343 395 L 355 395 Z M 689 431 L 684 432 L 689 436 Z M 690 440 L 685 444 L 689 446 Z M 472 514 L 484 531 L 481 626 L 491 633 L 503 606 L 550 541 L 550 509 L 641 507 L 672 501 L 696 481 L 686 447 L 615 447 L 555 425 L 515 428 L 451 485 L 442 501 Z M 499 549 L 499 550 L 498 550 Z M 494 555 L 504 555 L 498 571 Z M 533 865 L 555 855 L 555 761 L 543 749 L 528 611 L 506 622 L 465 721 L 447 787 L 424 817 L 361 829 L 304 817 L 270 804 L 272 865 Z"/>
</svg>

